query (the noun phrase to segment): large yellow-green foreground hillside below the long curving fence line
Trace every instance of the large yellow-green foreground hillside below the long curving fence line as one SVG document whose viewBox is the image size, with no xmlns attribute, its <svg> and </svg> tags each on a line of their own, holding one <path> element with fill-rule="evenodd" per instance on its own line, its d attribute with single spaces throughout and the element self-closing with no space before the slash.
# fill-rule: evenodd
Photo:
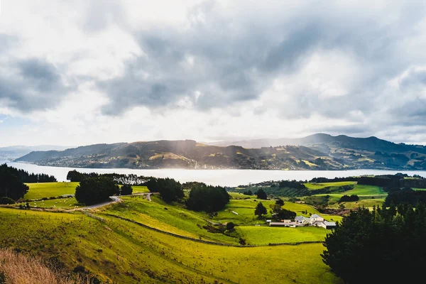
<svg viewBox="0 0 426 284">
<path fill-rule="evenodd" d="M 321 261 L 322 244 L 215 246 L 81 213 L 0 208 L 0 246 L 114 283 L 341 283 Z"/>
</svg>

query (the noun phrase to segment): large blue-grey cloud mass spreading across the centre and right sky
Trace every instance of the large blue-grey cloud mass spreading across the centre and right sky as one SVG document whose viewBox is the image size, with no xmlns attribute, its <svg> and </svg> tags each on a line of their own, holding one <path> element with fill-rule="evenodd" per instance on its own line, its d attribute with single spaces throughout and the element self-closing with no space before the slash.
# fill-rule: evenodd
<svg viewBox="0 0 426 284">
<path fill-rule="evenodd" d="M 410 4 L 386 24 L 350 7 L 321 8 L 268 19 L 268 23 L 263 23 L 261 13 L 240 22 L 226 18 L 209 1 L 192 11 L 201 12 L 204 21 L 192 22 L 183 31 L 172 26 L 138 31 L 135 37 L 143 55 L 127 62 L 123 77 L 99 84 L 111 99 L 104 111 L 120 114 L 135 105 L 173 108 L 182 97 L 200 110 L 258 99 L 276 76 L 297 72 L 315 51 L 339 50 L 365 68 L 359 84 L 342 97 L 325 99 L 300 89 L 283 94 L 292 96 L 288 106 L 275 107 L 290 107 L 283 112 L 286 118 L 312 114 L 338 118 L 350 110 L 370 114 L 375 111 L 371 102 L 384 92 L 384 82 L 413 64 L 401 43 L 406 31 L 422 20 L 424 6 Z"/>
</svg>

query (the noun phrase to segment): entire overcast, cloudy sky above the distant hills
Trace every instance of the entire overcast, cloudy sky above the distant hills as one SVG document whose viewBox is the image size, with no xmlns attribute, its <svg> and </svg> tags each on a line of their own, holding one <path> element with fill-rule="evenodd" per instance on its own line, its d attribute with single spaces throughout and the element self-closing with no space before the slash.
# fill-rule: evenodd
<svg viewBox="0 0 426 284">
<path fill-rule="evenodd" d="M 426 144 L 425 8 L 1 0 L 0 146 L 317 132 Z"/>
</svg>

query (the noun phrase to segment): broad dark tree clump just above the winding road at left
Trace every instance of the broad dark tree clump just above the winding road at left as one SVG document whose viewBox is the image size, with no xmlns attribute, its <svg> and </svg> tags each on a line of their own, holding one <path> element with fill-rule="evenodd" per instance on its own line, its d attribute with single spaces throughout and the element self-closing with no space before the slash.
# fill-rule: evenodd
<svg viewBox="0 0 426 284">
<path fill-rule="evenodd" d="M 118 194 L 119 186 L 107 177 L 86 178 L 75 188 L 75 199 L 86 205 L 107 201 L 110 196 Z"/>
</svg>

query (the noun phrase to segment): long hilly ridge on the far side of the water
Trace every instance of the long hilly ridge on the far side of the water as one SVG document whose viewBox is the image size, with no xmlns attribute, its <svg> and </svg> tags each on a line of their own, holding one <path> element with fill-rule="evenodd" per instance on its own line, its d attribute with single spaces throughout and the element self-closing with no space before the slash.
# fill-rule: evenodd
<svg viewBox="0 0 426 284">
<path fill-rule="evenodd" d="M 33 151 L 16 161 L 72 168 L 426 170 L 425 146 L 396 144 L 376 137 L 318 133 L 238 144 L 212 146 L 192 140 L 96 144 L 65 151 Z"/>
</svg>

